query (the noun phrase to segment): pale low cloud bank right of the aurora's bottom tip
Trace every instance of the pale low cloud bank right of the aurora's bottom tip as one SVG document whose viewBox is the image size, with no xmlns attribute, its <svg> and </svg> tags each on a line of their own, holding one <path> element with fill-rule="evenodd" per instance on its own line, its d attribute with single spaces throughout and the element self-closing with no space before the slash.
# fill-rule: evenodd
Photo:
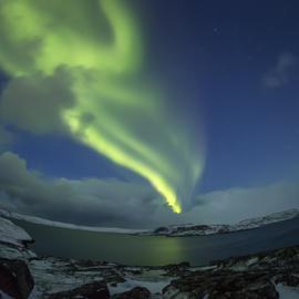
<svg viewBox="0 0 299 299">
<path fill-rule="evenodd" d="M 278 182 L 261 187 L 235 187 L 197 196 L 190 219 L 204 223 L 236 223 L 299 207 L 298 182 Z"/>
</svg>

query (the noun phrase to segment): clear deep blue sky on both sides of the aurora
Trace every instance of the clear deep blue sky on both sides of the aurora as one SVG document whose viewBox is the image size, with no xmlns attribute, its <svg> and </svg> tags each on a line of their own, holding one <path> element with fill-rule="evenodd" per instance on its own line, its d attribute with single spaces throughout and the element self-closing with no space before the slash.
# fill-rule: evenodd
<svg viewBox="0 0 299 299">
<path fill-rule="evenodd" d="M 140 2 L 134 4 L 148 75 L 198 132 L 205 124 L 207 161 L 197 192 L 298 178 L 299 2 Z M 267 86 L 262 79 L 283 55 L 293 58 L 293 65 L 282 68 L 279 86 Z M 53 177 L 130 177 L 92 150 L 58 136 L 22 132 L 12 151 Z"/>
</svg>

